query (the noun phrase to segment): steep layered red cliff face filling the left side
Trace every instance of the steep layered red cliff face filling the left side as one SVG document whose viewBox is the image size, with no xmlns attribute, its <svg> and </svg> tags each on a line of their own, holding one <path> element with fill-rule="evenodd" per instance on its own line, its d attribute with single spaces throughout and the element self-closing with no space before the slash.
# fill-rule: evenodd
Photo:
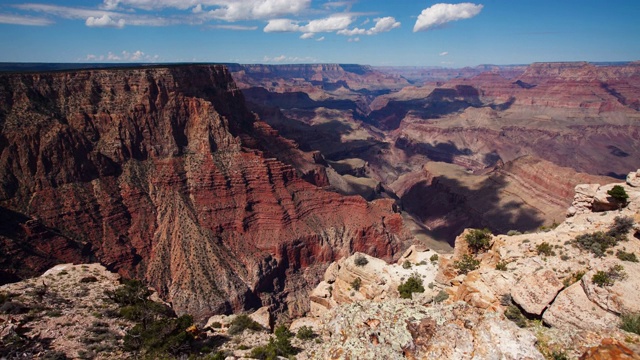
<svg viewBox="0 0 640 360">
<path fill-rule="evenodd" d="M 196 317 L 303 312 L 316 267 L 356 250 L 391 258 L 403 236 L 390 202 L 303 181 L 289 164 L 326 182 L 222 66 L 0 75 L 0 126 L 0 206 L 16 214 L 0 239 L 22 266 L 98 259 Z M 28 223 L 64 246 L 30 254 L 53 243 Z"/>
</svg>

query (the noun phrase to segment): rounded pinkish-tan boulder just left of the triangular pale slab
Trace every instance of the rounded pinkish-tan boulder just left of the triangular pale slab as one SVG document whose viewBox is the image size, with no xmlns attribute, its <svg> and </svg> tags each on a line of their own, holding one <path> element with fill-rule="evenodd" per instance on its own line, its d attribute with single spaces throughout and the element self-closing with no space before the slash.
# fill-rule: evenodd
<svg viewBox="0 0 640 360">
<path fill-rule="evenodd" d="M 511 290 L 511 297 L 527 313 L 540 315 L 562 288 L 553 271 L 538 271 L 523 276 Z"/>
</svg>

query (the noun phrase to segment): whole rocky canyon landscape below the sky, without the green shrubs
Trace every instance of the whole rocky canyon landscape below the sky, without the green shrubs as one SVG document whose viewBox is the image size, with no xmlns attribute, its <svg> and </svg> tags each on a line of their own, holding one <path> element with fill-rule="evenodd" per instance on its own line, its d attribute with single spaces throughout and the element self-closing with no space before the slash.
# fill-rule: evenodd
<svg viewBox="0 0 640 360">
<path fill-rule="evenodd" d="M 316 332 L 295 339 L 303 359 L 638 358 L 640 337 L 612 324 L 640 311 L 640 268 L 612 254 L 640 253 L 640 62 L 2 70 L 0 339 L 32 350 L 0 356 L 144 355 L 119 350 L 134 323 L 116 320 L 100 325 L 123 336 L 109 351 L 45 341 L 88 331 L 63 289 L 89 271 L 92 302 L 140 280 L 192 317 L 193 341 L 233 338 L 250 314 L 262 331 L 216 342 L 232 358 L 281 324 Z M 620 218 L 610 254 L 576 245 Z M 471 228 L 492 234 L 479 253 Z M 626 277 L 594 283 L 618 263 Z M 428 289 L 399 299 L 412 274 Z M 54 289 L 64 310 L 45 319 Z"/>
</svg>

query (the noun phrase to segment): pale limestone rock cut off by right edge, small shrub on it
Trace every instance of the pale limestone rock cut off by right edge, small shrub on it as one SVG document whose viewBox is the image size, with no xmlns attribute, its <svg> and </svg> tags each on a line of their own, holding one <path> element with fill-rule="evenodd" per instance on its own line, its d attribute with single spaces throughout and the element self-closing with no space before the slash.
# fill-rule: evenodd
<svg viewBox="0 0 640 360">
<path fill-rule="evenodd" d="M 603 309 L 616 314 L 638 313 L 640 312 L 640 277 L 637 275 L 640 274 L 640 263 L 619 262 L 624 266 L 627 276 L 616 280 L 612 286 L 599 287 L 591 281 L 597 270 L 607 271 L 616 263 L 618 262 L 606 262 L 586 273 L 582 277 L 582 287 L 589 300 Z"/>
</svg>

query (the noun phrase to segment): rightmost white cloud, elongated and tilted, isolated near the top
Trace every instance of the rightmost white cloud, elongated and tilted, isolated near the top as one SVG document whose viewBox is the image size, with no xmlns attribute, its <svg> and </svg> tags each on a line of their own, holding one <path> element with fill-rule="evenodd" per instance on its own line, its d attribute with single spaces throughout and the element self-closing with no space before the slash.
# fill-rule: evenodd
<svg viewBox="0 0 640 360">
<path fill-rule="evenodd" d="M 413 32 L 427 31 L 451 21 L 472 18 L 478 15 L 482 8 L 482 5 L 472 3 L 435 4 L 422 10 L 413 27 Z"/>
</svg>

